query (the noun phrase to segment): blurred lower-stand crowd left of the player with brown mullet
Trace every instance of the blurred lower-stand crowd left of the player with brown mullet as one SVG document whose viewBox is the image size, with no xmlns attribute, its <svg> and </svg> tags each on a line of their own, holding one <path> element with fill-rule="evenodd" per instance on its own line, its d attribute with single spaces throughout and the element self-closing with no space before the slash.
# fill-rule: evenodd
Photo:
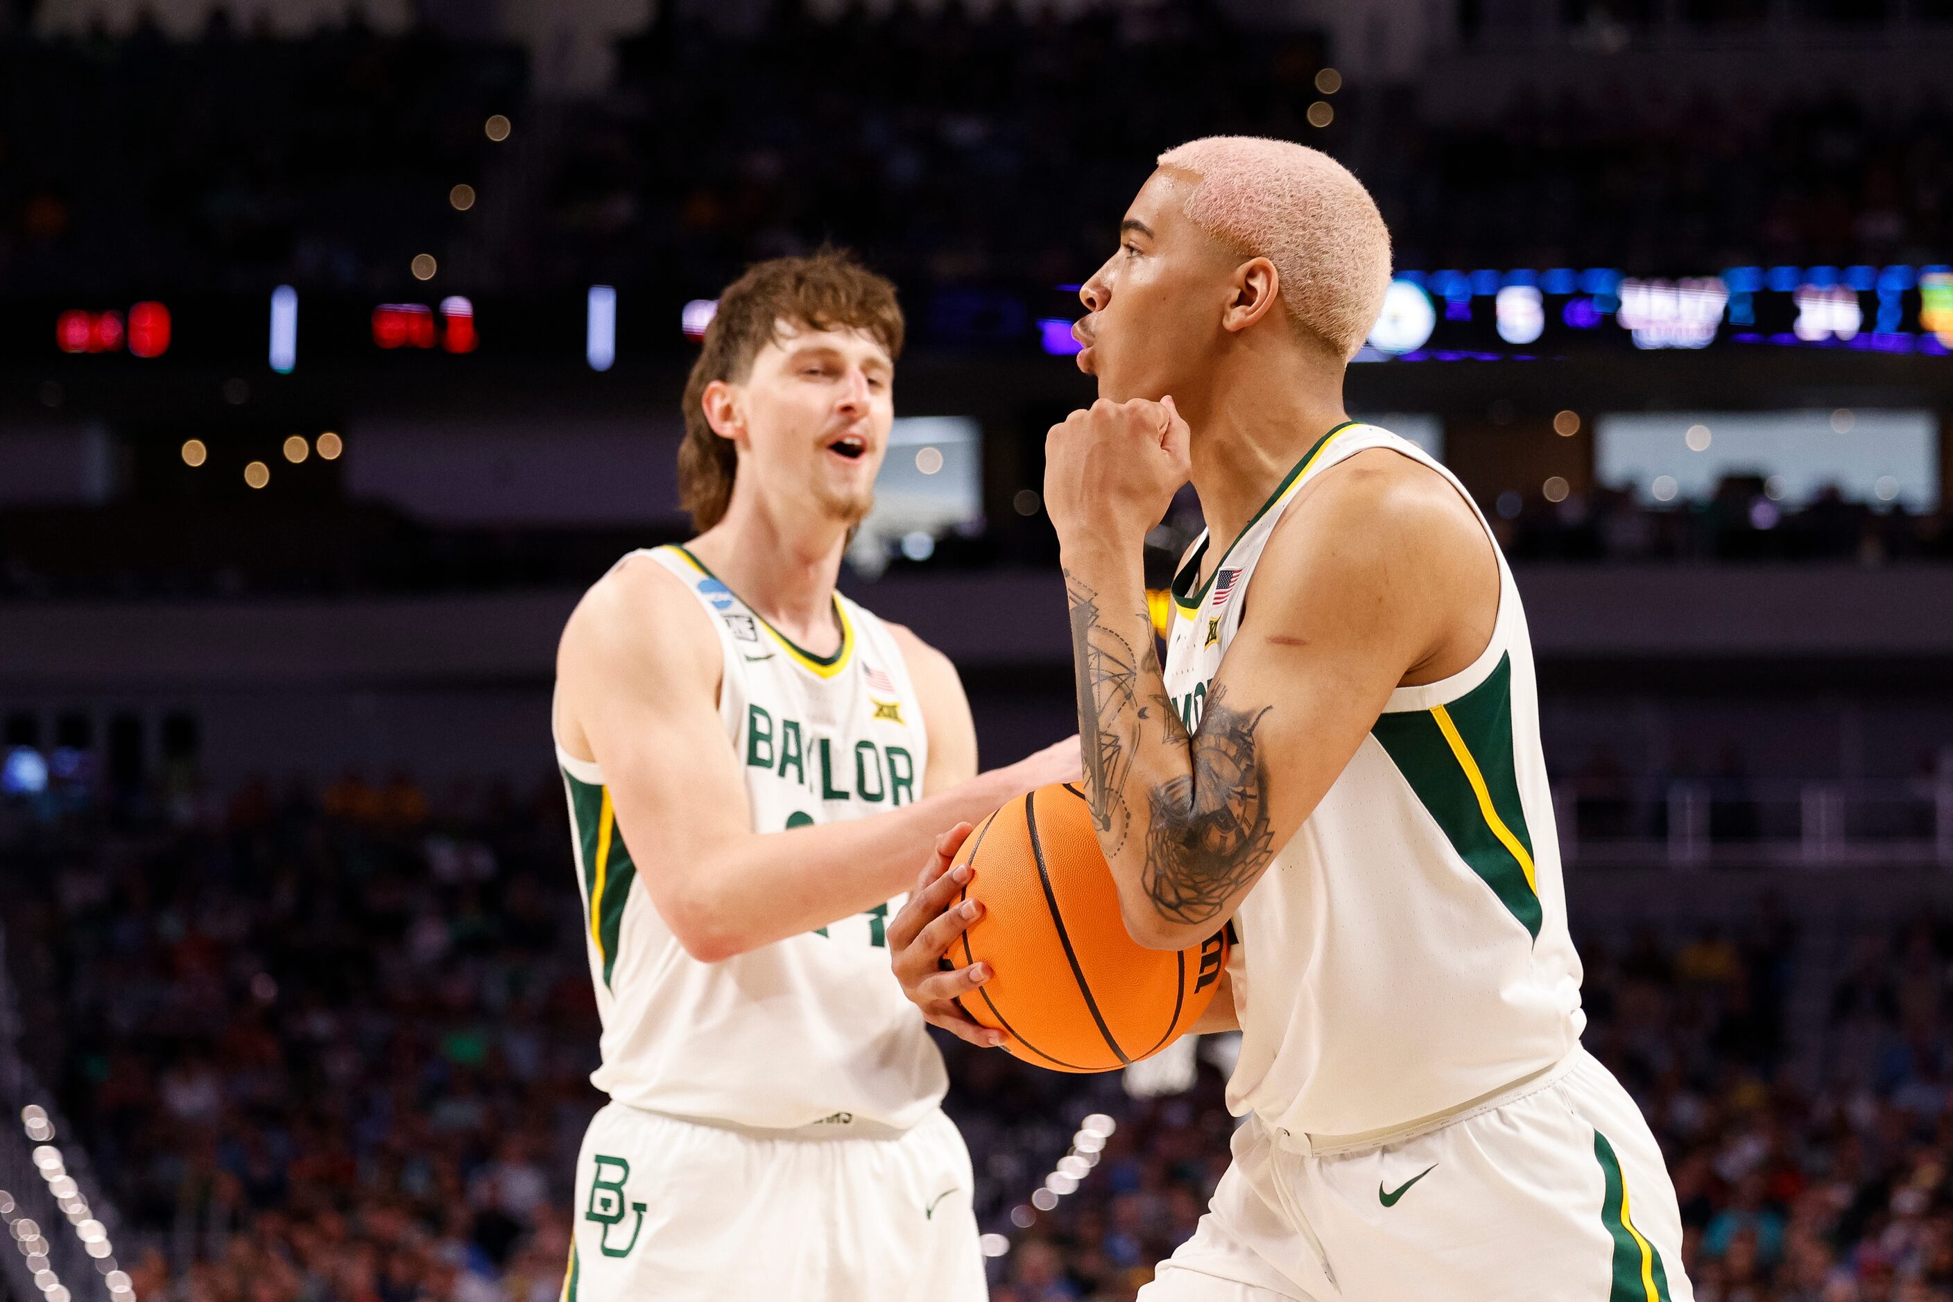
<svg viewBox="0 0 1953 1302">
<path fill-rule="evenodd" d="M 23 1044 L 137 1296 L 547 1302 L 598 1095 L 559 789 L 8 828 Z"/>
</svg>

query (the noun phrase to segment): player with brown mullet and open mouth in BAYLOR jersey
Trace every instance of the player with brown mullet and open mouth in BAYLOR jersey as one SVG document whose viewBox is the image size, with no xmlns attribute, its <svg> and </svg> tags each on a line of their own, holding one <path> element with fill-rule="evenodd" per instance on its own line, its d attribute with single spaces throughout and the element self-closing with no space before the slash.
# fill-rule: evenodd
<svg viewBox="0 0 1953 1302">
<path fill-rule="evenodd" d="M 959 820 L 1078 773 L 976 773 L 957 671 L 834 591 L 894 420 L 894 287 L 752 267 L 686 387 L 684 547 L 570 615 L 555 742 L 609 1095 L 564 1302 L 980 1302 L 969 1154 L 885 923 Z"/>
</svg>

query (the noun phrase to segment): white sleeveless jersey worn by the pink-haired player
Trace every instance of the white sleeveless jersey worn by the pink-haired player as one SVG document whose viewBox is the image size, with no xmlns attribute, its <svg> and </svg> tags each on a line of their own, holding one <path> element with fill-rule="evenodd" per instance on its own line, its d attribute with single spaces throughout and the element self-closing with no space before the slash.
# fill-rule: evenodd
<svg viewBox="0 0 1953 1302">
<path fill-rule="evenodd" d="M 1205 584 L 1195 588 L 1205 537 L 1174 578 L 1166 689 L 1189 728 L 1281 513 L 1312 476 L 1371 447 L 1432 467 L 1471 502 L 1387 429 L 1350 422 L 1326 433 Z M 1391 693 L 1234 925 L 1236 1117 L 1252 1111 L 1293 1134 L 1387 1130 L 1578 1044 L 1580 958 L 1566 935 L 1533 646 L 1502 554 L 1490 644 L 1443 681 Z"/>
</svg>

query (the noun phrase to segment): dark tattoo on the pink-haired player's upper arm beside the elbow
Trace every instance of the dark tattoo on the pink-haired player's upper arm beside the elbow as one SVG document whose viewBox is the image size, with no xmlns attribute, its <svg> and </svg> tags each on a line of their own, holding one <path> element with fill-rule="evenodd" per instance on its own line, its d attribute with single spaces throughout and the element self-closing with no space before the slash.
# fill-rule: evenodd
<svg viewBox="0 0 1953 1302">
<path fill-rule="evenodd" d="M 1266 714 L 1267 707 L 1252 714 L 1230 709 L 1226 687 L 1215 683 L 1193 734 L 1193 771 L 1152 789 L 1141 884 L 1160 917 L 1215 919 L 1273 859 L 1267 767 L 1254 752 Z"/>
</svg>

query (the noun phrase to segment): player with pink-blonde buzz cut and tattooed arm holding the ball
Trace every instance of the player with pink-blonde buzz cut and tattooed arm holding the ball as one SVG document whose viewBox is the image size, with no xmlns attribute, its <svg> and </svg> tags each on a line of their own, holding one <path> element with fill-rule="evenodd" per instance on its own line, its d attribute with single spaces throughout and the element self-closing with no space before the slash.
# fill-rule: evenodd
<svg viewBox="0 0 1953 1302">
<path fill-rule="evenodd" d="M 1232 923 L 1234 1161 L 1143 1302 L 1689 1302 L 1660 1148 L 1580 1048 L 1525 613 L 1437 461 L 1344 412 L 1391 279 L 1363 185 L 1299 144 L 1160 156 L 1080 291 L 1100 400 L 1045 441 L 1086 793 L 1135 941 Z M 1162 666 L 1143 539 L 1207 535 Z M 949 837 L 955 839 L 955 837 Z M 891 937 L 937 1025 L 961 873 Z"/>
</svg>

